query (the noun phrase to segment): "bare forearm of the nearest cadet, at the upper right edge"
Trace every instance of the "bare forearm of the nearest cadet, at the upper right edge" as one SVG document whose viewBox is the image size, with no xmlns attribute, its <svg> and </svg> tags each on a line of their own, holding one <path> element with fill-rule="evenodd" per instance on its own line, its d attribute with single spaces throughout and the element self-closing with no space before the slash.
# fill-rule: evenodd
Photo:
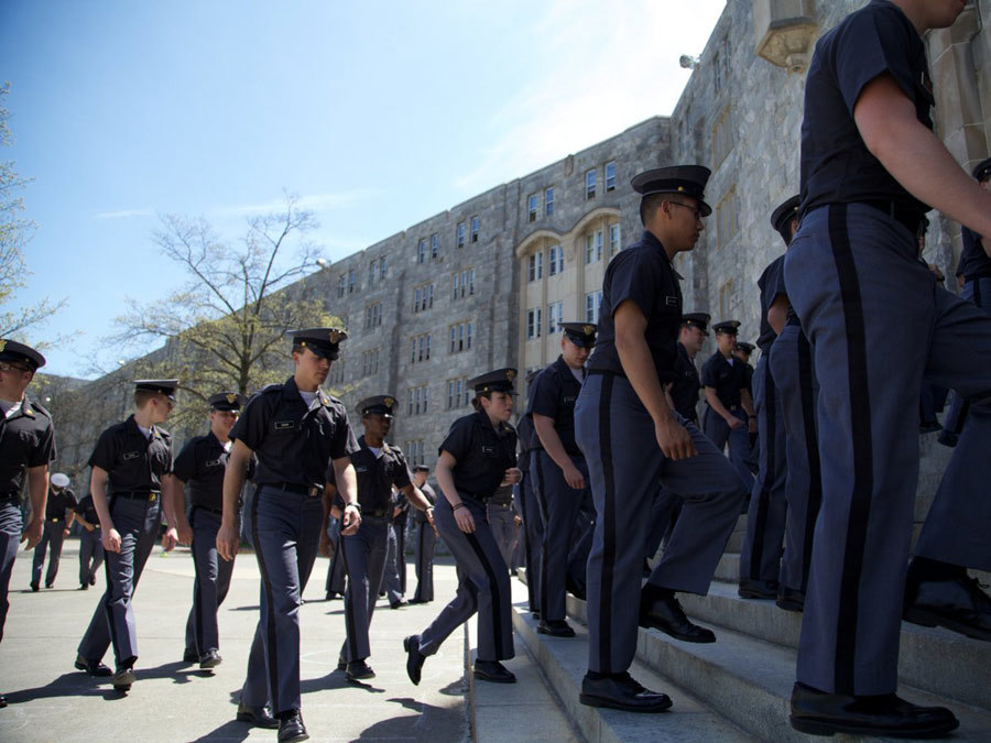
<svg viewBox="0 0 991 743">
<path fill-rule="evenodd" d="M 991 255 L 991 194 L 981 189 L 885 73 L 868 83 L 853 107 L 864 144 L 910 194 L 983 237 Z"/>
</svg>

